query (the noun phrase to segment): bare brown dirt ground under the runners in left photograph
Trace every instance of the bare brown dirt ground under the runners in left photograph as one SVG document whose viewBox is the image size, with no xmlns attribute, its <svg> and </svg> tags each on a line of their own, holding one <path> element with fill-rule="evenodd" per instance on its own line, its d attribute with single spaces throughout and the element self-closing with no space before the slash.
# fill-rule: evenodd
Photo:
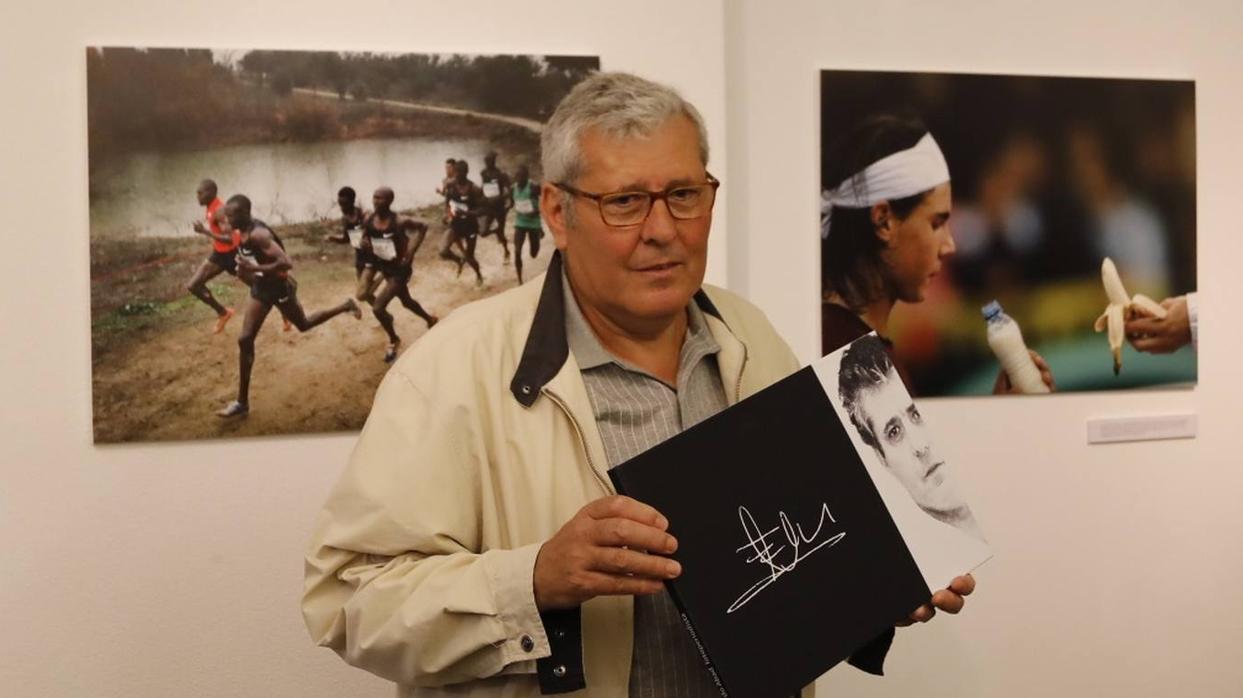
<svg viewBox="0 0 1243 698">
<path fill-rule="evenodd" d="M 502 265 L 495 237 L 480 238 L 477 256 L 486 283 L 476 288 L 469 268 L 457 278 L 454 265 L 436 258 L 440 235 L 434 231 L 419 250 L 410 282 L 415 299 L 434 314 L 445 317 L 452 308 L 517 284 L 513 266 Z M 526 278 L 543 272 L 551 252 L 551 238 L 544 236 L 539 257 L 530 260 L 528 255 Z M 342 256 L 301 260 L 293 274 L 308 313 L 339 303 L 353 292 L 353 266 Z M 213 335 L 214 317 L 206 307 L 195 303 L 181 312 L 193 322 L 134 332 L 131 342 L 119 343 L 96 361 L 96 442 L 357 430 L 388 370 L 382 360 L 388 342 L 368 309 L 360 320 L 343 314 L 306 334 L 281 332 L 280 315 L 273 312 L 257 339 L 251 414 L 221 420 L 215 410 L 237 390 L 241 317 Z M 426 332 L 423 320 L 398 302 L 389 312 L 397 318 L 404 348 Z"/>
</svg>

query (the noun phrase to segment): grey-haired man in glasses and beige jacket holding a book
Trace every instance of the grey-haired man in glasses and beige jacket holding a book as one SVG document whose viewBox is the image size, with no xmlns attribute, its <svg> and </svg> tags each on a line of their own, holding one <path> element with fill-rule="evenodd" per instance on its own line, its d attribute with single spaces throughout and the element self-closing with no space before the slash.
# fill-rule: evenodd
<svg viewBox="0 0 1243 698">
<path fill-rule="evenodd" d="M 798 365 L 702 286 L 718 183 L 691 104 L 597 75 L 542 158 L 547 273 L 394 364 L 316 524 L 303 614 L 400 696 L 720 696 L 664 591 L 667 520 L 607 469 Z M 888 640 L 858 663 L 879 671 Z"/>
</svg>

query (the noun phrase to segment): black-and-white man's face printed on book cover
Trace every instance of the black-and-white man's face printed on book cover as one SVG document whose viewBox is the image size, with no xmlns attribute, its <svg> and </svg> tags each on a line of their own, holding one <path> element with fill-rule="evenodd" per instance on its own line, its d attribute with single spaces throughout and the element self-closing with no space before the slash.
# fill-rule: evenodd
<svg viewBox="0 0 1243 698">
<path fill-rule="evenodd" d="M 924 417 L 902 390 L 897 371 L 890 369 L 884 383 L 864 390 L 859 395 L 859 409 L 880 445 L 885 467 L 920 508 L 950 513 L 966 505 L 946 482 L 945 461 L 932 452 Z"/>
</svg>

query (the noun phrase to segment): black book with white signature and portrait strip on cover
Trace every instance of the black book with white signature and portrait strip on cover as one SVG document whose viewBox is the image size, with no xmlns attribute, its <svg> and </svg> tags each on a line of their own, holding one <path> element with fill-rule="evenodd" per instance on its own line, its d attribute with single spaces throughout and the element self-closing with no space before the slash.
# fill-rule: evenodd
<svg viewBox="0 0 1243 698">
<path fill-rule="evenodd" d="M 796 694 L 991 555 L 874 334 L 609 474 L 722 696 Z"/>
</svg>

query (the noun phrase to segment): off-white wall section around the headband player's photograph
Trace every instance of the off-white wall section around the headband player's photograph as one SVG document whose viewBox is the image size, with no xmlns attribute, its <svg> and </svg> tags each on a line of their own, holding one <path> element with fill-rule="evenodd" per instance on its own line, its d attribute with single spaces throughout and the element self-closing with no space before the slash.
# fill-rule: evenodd
<svg viewBox="0 0 1243 698">
<path fill-rule="evenodd" d="M 829 696 L 1243 693 L 1238 493 L 1243 5 L 1237 1 L 726 1 L 731 286 L 804 360 L 819 347 L 819 68 L 1195 78 L 1195 391 L 932 400 L 925 412 L 998 550 L 957 619 L 899 632 L 884 679 Z M 1195 441 L 1088 447 L 1089 416 L 1191 410 Z M 866 590 L 860 590 L 861 594 Z"/>
</svg>

